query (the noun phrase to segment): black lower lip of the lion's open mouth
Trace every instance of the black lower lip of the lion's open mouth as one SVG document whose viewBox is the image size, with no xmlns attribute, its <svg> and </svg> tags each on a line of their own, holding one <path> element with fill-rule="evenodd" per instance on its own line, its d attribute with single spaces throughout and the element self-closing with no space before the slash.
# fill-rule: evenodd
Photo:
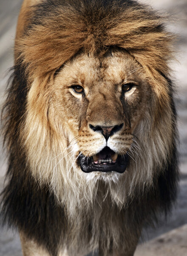
<svg viewBox="0 0 187 256">
<path fill-rule="evenodd" d="M 106 147 L 107 148 L 107 147 Z M 127 168 L 129 158 L 128 154 L 118 155 L 116 163 L 112 164 L 94 164 L 93 157 L 85 157 L 83 154 L 80 154 L 77 162 L 82 170 L 82 172 L 125 172 Z"/>
</svg>

